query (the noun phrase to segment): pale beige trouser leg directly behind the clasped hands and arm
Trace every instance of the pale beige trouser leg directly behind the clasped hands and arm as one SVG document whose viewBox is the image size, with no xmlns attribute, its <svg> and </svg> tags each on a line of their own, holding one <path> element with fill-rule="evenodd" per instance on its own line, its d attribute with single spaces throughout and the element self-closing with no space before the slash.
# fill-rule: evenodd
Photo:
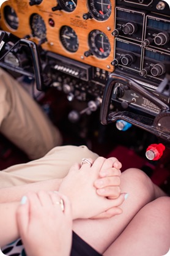
<svg viewBox="0 0 170 256">
<path fill-rule="evenodd" d="M 96 159 L 98 155 L 86 146 L 57 146 L 41 159 L 0 171 L 0 188 L 64 178 L 75 162 L 81 164 L 83 157 Z"/>
</svg>

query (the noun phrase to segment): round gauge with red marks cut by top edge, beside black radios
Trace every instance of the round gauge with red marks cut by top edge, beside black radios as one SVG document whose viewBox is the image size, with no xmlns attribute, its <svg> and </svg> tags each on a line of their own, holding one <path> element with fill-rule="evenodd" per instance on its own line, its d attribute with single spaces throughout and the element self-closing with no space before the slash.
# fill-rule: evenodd
<svg viewBox="0 0 170 256">
<path fill-rule="evenodd" d="M 87 3 L 93 18 L 99 21 L 108 20 L 111 15 L 110 0 L 88 0 Z"/>
</svg>

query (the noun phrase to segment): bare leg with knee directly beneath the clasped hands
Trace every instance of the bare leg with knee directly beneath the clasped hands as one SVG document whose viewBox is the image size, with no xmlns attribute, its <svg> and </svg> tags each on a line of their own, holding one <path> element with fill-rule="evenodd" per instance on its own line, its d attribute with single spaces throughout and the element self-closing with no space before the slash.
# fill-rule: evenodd
<svg viewBox="0 0 170 256">
<path fill-rule="evenodd" d="M 155 186 L 144 172 L 131 168 L 122 173 L 120 180 L 121 191 L 128 193 L 127 200 L 120 206 L 122 214 L 110 219 L 76 220 L 73 223 L 75 233 L 101 254 L 124 231 L 138 211 L 155 199 Z"/>
</svg>

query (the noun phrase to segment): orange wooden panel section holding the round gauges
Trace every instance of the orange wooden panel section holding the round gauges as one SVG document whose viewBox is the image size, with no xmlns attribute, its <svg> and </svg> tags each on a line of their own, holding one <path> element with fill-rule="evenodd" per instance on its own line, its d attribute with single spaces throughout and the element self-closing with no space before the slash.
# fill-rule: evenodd
<svg viewBox="0 0 170 256">
<path fill-rule="evenodd" d="M 113 0 L 8 0 L 1 6 L 1 28 L 46 51 L 113 72 L 114 7 Z"/>
</svg>

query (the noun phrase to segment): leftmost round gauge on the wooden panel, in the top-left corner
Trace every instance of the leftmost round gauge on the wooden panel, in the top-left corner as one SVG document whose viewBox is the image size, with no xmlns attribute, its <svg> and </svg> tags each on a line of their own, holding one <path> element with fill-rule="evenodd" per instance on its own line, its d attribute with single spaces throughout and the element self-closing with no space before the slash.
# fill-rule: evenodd
<svg viewBox="0 0 170 256">
<path fill-rule="evenodd" d="M 12 7 L 10 7 L 10 6 L 4 7 L 4 18 L 7 22 L 7 24 L 9 24 L 10 28 L 12 28 L 12 29 L 18 28 L 18 25 L 19 25 L 18 16 Z"/>
</svg>

